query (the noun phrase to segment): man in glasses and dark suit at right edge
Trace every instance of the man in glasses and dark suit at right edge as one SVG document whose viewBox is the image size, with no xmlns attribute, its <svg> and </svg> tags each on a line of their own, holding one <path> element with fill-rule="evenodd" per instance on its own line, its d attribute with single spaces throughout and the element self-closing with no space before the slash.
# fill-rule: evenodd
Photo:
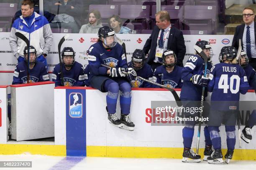
<svg viewBox="0 0 256 170">
<path fill-rule="evenodd" d="M 243 24 L 236 27 L 236 32 L 233 37 L 232 46 L 238 49 L 239 39 L 241 45 L 249 58 L 250 65 L 256 69 L 256 25 L 254 23 L 254 10 L 251 7 L 245 7 L 243 10 Z"/>
</svg>

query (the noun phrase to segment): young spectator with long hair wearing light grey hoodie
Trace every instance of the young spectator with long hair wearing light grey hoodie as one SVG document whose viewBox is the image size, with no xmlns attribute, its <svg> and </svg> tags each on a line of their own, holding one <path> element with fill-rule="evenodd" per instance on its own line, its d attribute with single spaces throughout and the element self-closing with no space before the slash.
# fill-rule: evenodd
<svg viewBox="0 0 256 170">
<path fill-rule="evenodd" d="M 88 14 L 88 24 L 82 25 L 79 33 L 93 33 L 97 34 L 102 26 L 100 22 L 100 11 L 91 10 Z"/>
</svg>

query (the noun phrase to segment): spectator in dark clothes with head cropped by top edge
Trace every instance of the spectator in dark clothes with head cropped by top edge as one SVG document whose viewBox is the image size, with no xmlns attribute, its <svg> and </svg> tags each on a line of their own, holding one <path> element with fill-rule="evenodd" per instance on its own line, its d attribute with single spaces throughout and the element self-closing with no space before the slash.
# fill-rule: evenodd
<svg viewBox="0 0 256 170">
<path fill-rule="evenodd" d="M 54 0 L 46 5 L 46 10 L 56 14 L 51 21 L 51 28 L 71 28 L 72 33 L 78 33 L 76 16 L 82 13 L 82 2 L 80 0 Z"/>
</svg>

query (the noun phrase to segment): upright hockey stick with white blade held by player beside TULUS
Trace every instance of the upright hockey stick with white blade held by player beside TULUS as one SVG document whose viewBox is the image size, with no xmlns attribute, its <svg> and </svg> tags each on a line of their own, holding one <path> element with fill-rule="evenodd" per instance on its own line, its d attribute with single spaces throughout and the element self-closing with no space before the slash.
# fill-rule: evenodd
<svg viewBox="0 0 256 170">
<path fill-rule="evenodd" d="M 206 77 L 208 57 L 206 56 L 205 52 L 200 47 L 198 47 L 197 45 L 195 45 L 194 48 L 202 56 L 202 58 L 204 59 L 204 62 L 205 62 L 204 77 Z M 202 110 L 204 108 L 204 96 L 205 96 L 205 87 L 202 87 L 202 97 L 201 97 L 201 105 L 200 105 Z M 202 117 L 202 111 L 200 111 L 199 114 L 200 114 L 199 116 Z M 201 134 L 201 121 L 199 121 L 198 132 L 197 132 L 197 151 L 196 151 L 197 155 L 198 155 L 198 151 L 199 151 L 200 134 Z"/>
</svg>

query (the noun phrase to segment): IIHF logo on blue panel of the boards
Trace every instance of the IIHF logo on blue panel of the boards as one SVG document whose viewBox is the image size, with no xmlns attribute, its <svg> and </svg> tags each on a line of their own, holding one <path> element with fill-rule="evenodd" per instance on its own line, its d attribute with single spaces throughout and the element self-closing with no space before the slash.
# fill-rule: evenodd
<svg viewBox="0 0 256 170">
<path fill-rule="evenodd" d="M 79 92 L 69 94 L 69 116 L 72 118 L 83 116 L 83 96 Z"/>
</svg>

